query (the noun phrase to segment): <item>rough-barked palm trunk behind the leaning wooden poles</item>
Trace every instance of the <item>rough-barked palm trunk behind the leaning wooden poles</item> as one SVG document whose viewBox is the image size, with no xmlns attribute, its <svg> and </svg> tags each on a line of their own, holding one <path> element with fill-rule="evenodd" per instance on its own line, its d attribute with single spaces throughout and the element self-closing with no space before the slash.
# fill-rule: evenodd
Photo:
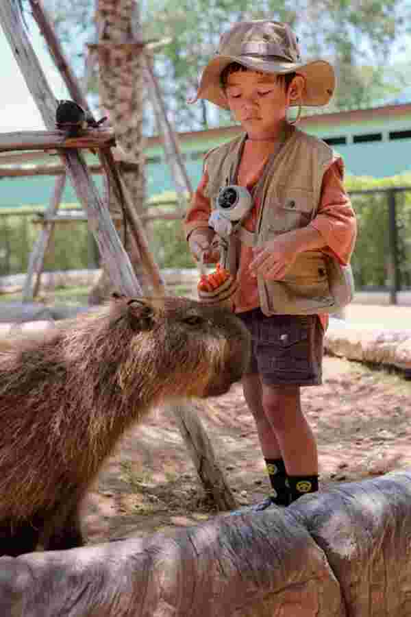
<svg viewBox="0 0 411 617">
<path fill-rule="evenodd" d="M 96 19 L 99 32 L 99 80 L 102 107 L 108 112 L 125 156 L 138 165 L 138 171 L 123 175 L 123 181 L 138 216 L 145 204 L 145 154 L 142 138 L 143 75 L 142 45 L 135 43 L 136 3 L 134 0 L 97 0 Z M 141 36 L 140 36 L 141 40 Z M 112 216 L 121 215 L 113 197 L 113 186 L 106 187 L 108 208 Z M 129 226 L 123 219 L 116 223 L 136 276 L 145 293 L 151 289 L 142 268 L 141 255 Z M 99 304 L 111 293 L 110 278 L 103 269 L 90 292 L 89 304 Z"/>
</svg>

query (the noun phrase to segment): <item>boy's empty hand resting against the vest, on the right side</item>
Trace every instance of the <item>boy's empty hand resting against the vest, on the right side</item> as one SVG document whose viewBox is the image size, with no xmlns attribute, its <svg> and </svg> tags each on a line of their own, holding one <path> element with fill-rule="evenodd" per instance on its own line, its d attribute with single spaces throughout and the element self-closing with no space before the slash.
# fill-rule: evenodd
<svg viewBox="0 0 411 617">
<path fill-rule="evenodd" d="M 254 258 L 249 265 L 253 276 L 258 274 L 267 280 L 279 280 L 295 262 L 299 254 L 295 234 L 286 233 L 253 249 Z"/>
</svg>

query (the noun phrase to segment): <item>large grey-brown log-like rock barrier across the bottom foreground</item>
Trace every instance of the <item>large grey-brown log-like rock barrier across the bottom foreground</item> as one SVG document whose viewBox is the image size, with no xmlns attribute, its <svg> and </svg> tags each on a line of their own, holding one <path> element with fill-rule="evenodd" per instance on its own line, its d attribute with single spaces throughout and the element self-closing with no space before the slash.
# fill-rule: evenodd
<svg viewBox="0 0 411 617">
<path fill-rule="evenodd" d="M 0 559 L 12 617 L 408 617 L 411 470 L 287 509 Z"/>
</svg>

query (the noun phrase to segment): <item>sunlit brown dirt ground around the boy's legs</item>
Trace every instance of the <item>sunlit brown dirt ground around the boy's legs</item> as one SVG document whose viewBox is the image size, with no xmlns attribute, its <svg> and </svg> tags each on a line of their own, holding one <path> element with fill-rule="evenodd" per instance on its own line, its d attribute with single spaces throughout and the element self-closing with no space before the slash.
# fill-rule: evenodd
<svg viewBox="0 0 411 617">
<path fill-rule="evenodd" d="M 319 444 L 321 489 L 411 468 L 410 395 L 411 382 L 398 374 L 325 357 L 323 385 L 302 389 Z M 201 403 L 199 413 L 238 505 L 258 502 L 269 481 L 240 384 Z M 84 525 L 94 543 L 166 532 L 215 514 L 173 418 L 156 409 L 105 465 L 86 500 Z"/>
</svg>

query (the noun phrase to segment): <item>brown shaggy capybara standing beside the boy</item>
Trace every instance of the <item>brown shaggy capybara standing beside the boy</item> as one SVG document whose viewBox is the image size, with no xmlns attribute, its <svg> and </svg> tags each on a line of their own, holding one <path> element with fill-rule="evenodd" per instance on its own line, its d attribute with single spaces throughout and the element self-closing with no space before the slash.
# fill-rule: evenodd
<svg viewBox="0 0 411 617">
<path fill-rule="evenodd" d="M 225 393 L 249 335 L 225 309 L 125 298 L 0 352 L 0 555 L 84 544 L 78 505 L 154 405 Z"/>
</svg>

